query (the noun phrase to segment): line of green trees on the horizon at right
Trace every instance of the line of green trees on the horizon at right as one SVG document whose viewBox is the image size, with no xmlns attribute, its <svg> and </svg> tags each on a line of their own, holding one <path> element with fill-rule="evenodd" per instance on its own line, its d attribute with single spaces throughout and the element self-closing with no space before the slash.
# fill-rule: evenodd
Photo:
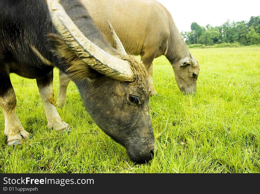
<svg viewBox="0 0 260 194">
<path fill-rule="evenodd" d="M 191 31 L 181 32 L 186 44 L 214 45 L 221 43 L 240 43 L 241 45 L 260 44 L 260 16 L 252 16 L 250 20 L 227 22 L 221 26 L 206 27 L 191 23 Z"/>
</svg>

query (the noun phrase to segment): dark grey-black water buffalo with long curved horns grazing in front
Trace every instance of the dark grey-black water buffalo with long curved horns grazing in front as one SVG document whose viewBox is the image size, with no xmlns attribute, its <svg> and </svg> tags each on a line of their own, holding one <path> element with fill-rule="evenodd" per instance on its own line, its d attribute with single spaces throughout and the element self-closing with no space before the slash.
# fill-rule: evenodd
<svg viewBox="0 0 260 194">
<path fill-rule="evenodd" d="M 120 42 L 113 48 L 78 0 L 2 0 L 0 9 L 0 105 L 8 145 L 31 137 L 15 113 L 10 73 L 36 79 L 48 127 L 69 129 L 54 106 L 55 66 L 75 82 L 87 112 L 132 161 L 152 159 L 156 144 L 140 60 L 126 55 Z"/>
</svg>

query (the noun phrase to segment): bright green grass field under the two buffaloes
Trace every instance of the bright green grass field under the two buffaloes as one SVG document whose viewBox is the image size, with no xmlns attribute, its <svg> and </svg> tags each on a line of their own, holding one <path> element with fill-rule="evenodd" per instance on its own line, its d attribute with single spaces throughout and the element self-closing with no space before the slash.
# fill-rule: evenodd
<svg viewBox="0 0 260 194">
<path fill-rule="evenodd" d="M 12 74 L 16 113 L 33 136 L 6 146 L 0 111 L 1 173 L 259 173 L 260 47 L 190 49 L 200 62 L 197 92 L 183 96 L 165 57 L 154 60 L 150 115 L 158 152 L 135 165 L 125 148 L 99 129 L 74 83 L 58 108 L 73 131 L 48 129 L 35 80 Z M 54 77 L 58 93 L 58 70 Z"/>
</svg>

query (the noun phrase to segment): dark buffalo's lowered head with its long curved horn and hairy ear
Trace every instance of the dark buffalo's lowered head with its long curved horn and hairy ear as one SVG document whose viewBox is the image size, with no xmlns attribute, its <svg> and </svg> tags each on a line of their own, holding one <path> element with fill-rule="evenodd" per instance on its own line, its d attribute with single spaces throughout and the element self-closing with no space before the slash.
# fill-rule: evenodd
<svg viewBox="0 0 260 194">
<path fill-rule="evenodd" d="M 55 65 L 77 85 L 87 112 L 100 129 L 123 145 L 132 161 L 148 162 L 156 144 L 144 65 L 125 55 L 123 47 L 114 56 L 100 49 L 58 1 L 49 1 L 48 6 L 59 33 L 48 34 L 51 51 L 57 56 Z"/>
</svg>

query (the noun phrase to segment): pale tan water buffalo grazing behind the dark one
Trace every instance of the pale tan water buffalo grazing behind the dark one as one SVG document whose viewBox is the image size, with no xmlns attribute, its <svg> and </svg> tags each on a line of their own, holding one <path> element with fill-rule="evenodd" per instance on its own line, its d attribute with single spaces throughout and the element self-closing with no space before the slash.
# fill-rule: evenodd
<svg viewBox="0 0 260 194">
<path fill-rule="evenodd" d="M 141 55 L 149 72 L 151 95 L 157 94 L 152 81 L 152 61 L 161 55 L 165 55 L 172 64 L 180 90 L 184 94 L 196 91 L 199 62 L 189 53 L 172 16 L 162 4 L 154 0 L 81 1 L 109 42 L 114 44 L 106 20 L 114 27 L 126 52 Z M 63 73 L 59 76 L 57 105 L 62 105 L 69 79 Z"/>
</svg>

